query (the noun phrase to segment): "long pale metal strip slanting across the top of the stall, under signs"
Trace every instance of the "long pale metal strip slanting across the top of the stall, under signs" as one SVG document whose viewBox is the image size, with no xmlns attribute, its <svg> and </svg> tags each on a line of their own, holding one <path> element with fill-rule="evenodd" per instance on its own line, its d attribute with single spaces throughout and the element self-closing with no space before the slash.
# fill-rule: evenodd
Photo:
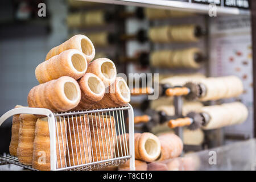
<svg viewBox="0 0 256 182">
<path fill-rule="evenodd" d="M 167 1 L 167 0 L 79 0 L 99 3 L 110 3 L 115 5 L 155 7 L 159 9 L 172 9 L 180 11 L 193 11 L 208 14 L 209 6 L 199 3 Z M 217 6 L 217 15 L 250 15 L 250 10 L 238 9 L 236 7 Z"/>
</svg>

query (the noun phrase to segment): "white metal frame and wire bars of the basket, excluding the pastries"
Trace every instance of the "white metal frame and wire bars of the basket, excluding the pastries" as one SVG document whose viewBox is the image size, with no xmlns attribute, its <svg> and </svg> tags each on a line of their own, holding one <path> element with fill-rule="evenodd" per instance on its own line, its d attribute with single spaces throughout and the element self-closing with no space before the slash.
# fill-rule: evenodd
<svg viewBox="0 0 256 182">
<path fill-rule="evenodd" d="M 128 115 L 129 115 L 129 149 L 127 148 L 127 150 L 129 150 L 130 154 L 126 155 L 126 153 L 125 153 L 125 156 L 119 156 L 119 154 L 118 154 L 118 157 L 115 157 L 115 158 L 112 158 L 112 159 L 98 160 L 97 162 L 80 164 L 80 165 L 76 165 L 76 166 L 62 167 L 62 165 L 61 165 L 61 168 L 58 168 L 56 166 L 57 165 L 57 163 L 56 163 L 57 162 L 57 154 L 56 154 L 56 128 L 57 128 L 57 125 L 55 126 L 55 124 L 56 124 L 55 118 L 57 118 L 57 117 L 64 117 L 65 118 L 65 116 L 68 117 L 69 115 L 81 115 L 81 114 L 89 114 L 89 113 L 92 114 L 92 113 L 100 113 L 100 112 L 103 115 L 103 112 L 107 112 L 107 111 L 109 111 L 109 113 L 110 113 L 110 111 L 113 111 L 113 114 L 114 114 L 114 111 L 118 111 L 118 110 L 119 111 L 120 110 L 127 110 L 128 111 Z M 133 113 L 133 107 L 131 107 L 130 104 L 128 104 L 126 106 L 123 106 L 123 107 L 114 107 L 114 108 L 108 108 L 108 109 L 96 109 L 96 110 L 86 110 L 86 111 L 77 111 L 77 112 L 69 112 L 69 113 L 54 113 L 54 114 L 52 113 L 51 110 L 43 109 L 43 108 L 29 108 L 29 107 L 16 108 L 16 109 L 12 109 L 10 111 L 7 111 L 7 113 L 2 115 L 2 117 L 0 118 L 0 126 L 7 118 L 9 118 L 9 117 L 11 117 L 15 114 L 36 114 L 36 115 L 46 115 L 47 116 L 48 126 L 49 126 L 50 151 L 51 151 L 50 161 L 51 161 L 51 170 L 52 171 L 68 170 L 68 169 L 75 169 L 76 170 L 76 169 L 84 169 L 84 167 L 85 167 L 85 169 L 88 169 L 89 166 L 91 167 L 92 165 L 95 165 L 95 164 L 98 165 L 100 163 L 107 163 L 107 162 L 109 162 L 109 164 L 114 164 L 114 162 L 115 162 L 115 164 L 117 164 L 117 161 L 120 162 L 120 160 L 127 160 L 127 159 L 130 159 L 130 170 L 131 171 L 135 170 L 134 113 Z M 124 118 L 123 118 L 123 115 L 122 115 L 121 122 L 124 123 L 123 119 Z M 118 118 L 117 118 L 117 120 L 118 120 Z M 60 127 L 61 127 L 61 124 L 60 124 Z M 122 128 L 122 130 L 123 130 L 123 128 Z M 107 146 L 107 148 L 108 148 L 108 146 Z M 33 169 L 30 166 L 26 166 L 24 164 L 19 163 L 17 158 L 15 158 L 14 156 L 10 156 L 10 155 L 2 156 L 2 157 L 0 156 L 0 164 L 2 164 L 2 163 L 4 164 L 4 162 L 5 163 L 12 163 L 12 164 L 15 164 L 17 166 L 21 166 L 21 167 L 28 168 L 28 169 Z M 89 169 L 91 169 L 91 168 L 89 168 Z"/>
</svg>

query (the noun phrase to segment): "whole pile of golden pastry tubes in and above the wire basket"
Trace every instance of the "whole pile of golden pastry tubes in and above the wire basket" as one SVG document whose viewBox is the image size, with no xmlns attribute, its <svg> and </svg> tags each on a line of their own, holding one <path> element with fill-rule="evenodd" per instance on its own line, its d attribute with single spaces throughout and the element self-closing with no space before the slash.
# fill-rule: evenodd
<svg viewBox="0 0 256 182">
<path fill-rule="evenodd" d="M 130 102 L 130 89 L 122 77 L 117 77 L 113 61 L 93 60 L 94 55 L 93 43 L 85 35 L 75 35 L 52 48 L 46 60 L 35 69 L 39 85 L 28 93 L 28 106 L 56 113 L 117 107 Z M 114 118 L 75 115 L 59 117 L 55 122 L 57 168 L 114 157 Z M 99 135 L 108 137 L 98 138 Z M 97 143 L 93 143 L 96 139 Z M 17 156 L 20 163 L 50 170 L 50 141 L 47 118 L 14 115 L 10 154 Z"/>
</svg>

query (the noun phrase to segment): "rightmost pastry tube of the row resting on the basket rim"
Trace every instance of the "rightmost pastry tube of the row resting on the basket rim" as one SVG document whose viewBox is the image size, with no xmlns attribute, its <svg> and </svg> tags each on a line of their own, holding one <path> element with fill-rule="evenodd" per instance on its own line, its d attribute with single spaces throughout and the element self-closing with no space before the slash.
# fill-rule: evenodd
<svg viewBox="0 0 256 182">
<path fill-rule="evenodd" d="M 108 91 L 108 92 L 107 92 Z M 118 107 L 129 103 L 131 100 L 130 89 L 122 77 L 117 77 L 115 82 L 109 86 L 101 101 L 97 102 L 93 108 Z"/>
</svg>

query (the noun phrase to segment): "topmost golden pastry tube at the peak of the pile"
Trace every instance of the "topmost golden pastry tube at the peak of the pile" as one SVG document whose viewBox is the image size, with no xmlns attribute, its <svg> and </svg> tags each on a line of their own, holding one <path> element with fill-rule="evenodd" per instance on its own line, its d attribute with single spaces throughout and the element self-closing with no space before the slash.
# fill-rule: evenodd
<svg viewBox="0 0 256 182">
<path fill-rule="evenodd" d="M 51 57 L 59 55 L 61 52 L 68 49 L 77 49 L 84 53 L 88 63 L 93 60 L 95 55 L 95 48 L 92 41 L 85 35 L 75 35 L 66 42 L 60 44 L 60 46 L 53 47 L 47 53 L 46 60 L 49 60 Z"/>
</svg>

